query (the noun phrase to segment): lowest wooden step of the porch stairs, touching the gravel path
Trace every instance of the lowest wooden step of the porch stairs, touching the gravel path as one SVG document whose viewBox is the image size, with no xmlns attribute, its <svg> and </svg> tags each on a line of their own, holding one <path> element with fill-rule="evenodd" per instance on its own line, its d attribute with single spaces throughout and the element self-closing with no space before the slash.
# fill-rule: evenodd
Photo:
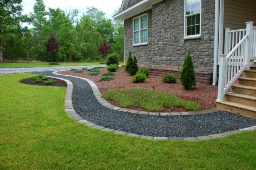
<svg viewBox="0 0 256 170">
<path fill-rule="evenodd" d="M 256 119 L 256 107 L 234 103 L 231 101 L 216 101 L 216 107 L 223 111 L 235 113 L 237 115 L 250 117 Z"/>
</svg>

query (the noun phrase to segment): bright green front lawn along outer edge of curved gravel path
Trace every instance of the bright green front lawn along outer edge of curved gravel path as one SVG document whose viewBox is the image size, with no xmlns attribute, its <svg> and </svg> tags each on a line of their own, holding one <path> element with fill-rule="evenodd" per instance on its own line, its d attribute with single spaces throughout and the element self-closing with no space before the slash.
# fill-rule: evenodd
<svg viewBox="0 0 256 170">
<path fill-rule="evenodd" d="M 70 119 L 64 87 L 0 76 L 0 169 L 255 169 L 256 131 L 214 140 L 155 141 Z"/>
</svg>

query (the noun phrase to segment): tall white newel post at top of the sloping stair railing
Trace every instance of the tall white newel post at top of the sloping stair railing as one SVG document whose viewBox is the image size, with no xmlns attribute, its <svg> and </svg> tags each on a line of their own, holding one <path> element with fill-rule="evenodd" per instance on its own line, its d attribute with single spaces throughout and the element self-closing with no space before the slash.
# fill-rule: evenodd
<svg viewBox="0 0 256 170">
<path fill-rule="evenodd" d="M 252 24 L 253 22 L 246 23 L 246 34 L 249 34 L 249 37 L 245 41 L 245 59 L 244 65 L 246 65 L 246 70 L 250 70 L 250 58 L 251 58 L 251 43 L 252 43 Z"/>
</svg>

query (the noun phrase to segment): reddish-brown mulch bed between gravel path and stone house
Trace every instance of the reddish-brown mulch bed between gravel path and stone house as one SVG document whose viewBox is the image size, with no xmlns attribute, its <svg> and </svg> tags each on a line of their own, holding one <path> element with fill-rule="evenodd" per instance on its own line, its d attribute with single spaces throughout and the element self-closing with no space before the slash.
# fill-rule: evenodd
<svg viewBox="0 0 256 170">
<path fill-rule="evenodd" d="M 182 99 L 192 100 L 200 103 L 203 109 L 211 109 L 215 108 L 215 100 L 217 99 L 218 87 L 212 87 L 210 84 L 197 83 L 197 86 L 192 88 L 192 90 L 184 90 L 180 85 L 179 80 L 177 83 L 168 84 L 163 83 L 161 81 L 161 76 L 149 75 L 147 77 L 145 83 L 131 83 L 132 76 L 123 71 L 123 68 L 119 68 L 114 80 L 105 81 L 105 82 L 97 82 L 102 74 L 107 73 L 106 68 L 99 69 L 101 73 L 97 76 L 89 76 L 88 72 L 84 73 L 74 73 L 72 71 L 59 71 L 58 74 L 63 75 L 74 75 L 82 78 L 87 78 L 92 80 L 99 88 L 99 91 L 102 93 L 103 91 L 108 90 L 109 88 L 124 88 L 124 87 L 143 87 L 143 88 L 154 88 L 163 92 L 170 92 L 171 94 L 177 95 Z M 109 101 L 109 103 L 119 106 L 114 101 Z M 129 109 L 135 109 L 140 111 L 145 111 L 145 109 L 140 107 L 127 107 Z M 183 112 L 186 111 L 184 108 L 174 108 L 173 110 L 166 108 L 162 112 Z"/>
</svg>

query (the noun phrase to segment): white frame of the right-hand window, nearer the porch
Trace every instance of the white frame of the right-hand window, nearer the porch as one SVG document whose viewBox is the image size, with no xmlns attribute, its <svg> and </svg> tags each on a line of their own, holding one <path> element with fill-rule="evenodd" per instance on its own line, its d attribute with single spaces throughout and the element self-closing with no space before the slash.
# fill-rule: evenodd
<svg viewBox="0 0 256 170">
<path fill-rule="evenodd" d="M 200 30 L 199 30 L 199 34 L 196 35 L 190 35 L 187 36 L 187 17 L 193 16 L 193 15 L 197 15 L 200 14 Z M 188 38 L 188 39 L 192 39 L 192 38 L 200 38 L 201 37 L 201 20 L 202 20 L 202 0 L 200 0 L 200 12 L 197 13 L 193 13 L 193 14 L 189 14 L 187 15 L 187 3 L 186 0 L 184 0 L 184 38 Z"/>
</svg>

